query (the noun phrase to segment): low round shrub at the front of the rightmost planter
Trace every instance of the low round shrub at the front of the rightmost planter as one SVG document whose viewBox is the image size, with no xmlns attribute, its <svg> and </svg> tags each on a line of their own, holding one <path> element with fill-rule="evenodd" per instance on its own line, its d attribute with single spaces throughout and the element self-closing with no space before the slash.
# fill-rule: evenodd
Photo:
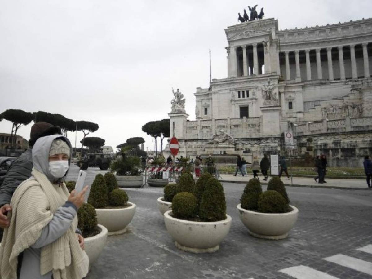
<svg viewBox="0 0 372 279">
<path fill-rule="evenodd" d="M 269 190 L 260 195 L 258 200 L 258 211 L 263 213 L 285 213 L 288 212 L 288 204 L 278 192 Z"/>
</svg>

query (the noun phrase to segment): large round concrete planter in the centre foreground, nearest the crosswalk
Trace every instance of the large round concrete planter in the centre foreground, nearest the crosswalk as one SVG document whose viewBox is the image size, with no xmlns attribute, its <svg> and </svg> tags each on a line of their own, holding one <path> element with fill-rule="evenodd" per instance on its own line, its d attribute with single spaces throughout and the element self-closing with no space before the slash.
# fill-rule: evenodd
<svg viewBox="0 0 372 279">
<path fill-rule="evenodd" d="M 175 240 L 177 248 L 192 253 L 212 253 L 226 237 L 231 226 L 231 217 L 217 222 L 195 222 L 173 218 L 172 211 L 164 213 L 167 231 Z"/>
</svg>

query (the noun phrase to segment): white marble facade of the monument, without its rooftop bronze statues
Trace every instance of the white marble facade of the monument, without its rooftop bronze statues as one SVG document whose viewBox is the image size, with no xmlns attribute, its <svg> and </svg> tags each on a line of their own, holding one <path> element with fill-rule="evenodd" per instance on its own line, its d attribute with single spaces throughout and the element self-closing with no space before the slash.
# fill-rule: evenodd
<svg viewBox="0 0 372 279">
<path fill-rule="evenodd" d="M 227 78 L 196 89 L 196 121 L 169 114 L 171 135 L 200 143 L 219 129 L 241 142 L 288 129 L 297 137 L 370 131 L 372 19 L 291 30 L 261 19 L 225 33 Z"/>
</svg>

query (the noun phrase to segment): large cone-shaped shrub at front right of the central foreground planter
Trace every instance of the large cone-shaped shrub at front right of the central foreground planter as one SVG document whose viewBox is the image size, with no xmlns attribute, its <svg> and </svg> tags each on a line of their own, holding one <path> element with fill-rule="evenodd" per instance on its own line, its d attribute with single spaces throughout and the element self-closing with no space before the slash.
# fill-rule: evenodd
<svg viewBox="0 0 372 279">
<path fill-rule="evenodd" d="M 199 207 L 199 217 L 204 221 L 222 221 L 226 219 L 226 201 L 221 182 L 210 178 L 204 189 Z"/>
</svg>

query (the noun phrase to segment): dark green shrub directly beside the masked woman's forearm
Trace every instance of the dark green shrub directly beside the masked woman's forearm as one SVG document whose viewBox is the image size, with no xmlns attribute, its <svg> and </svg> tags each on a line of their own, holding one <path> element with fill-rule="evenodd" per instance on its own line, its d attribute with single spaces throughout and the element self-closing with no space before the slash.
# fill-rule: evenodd
<svg viewBox="0 0 372 279">
<path fill-rule="evenodd" d="M 92 236 L 97 227 L 96 210 L 89 203 L 83 203 L 77 211 L 78 225 L 83 237 Z"/>
</svg>

